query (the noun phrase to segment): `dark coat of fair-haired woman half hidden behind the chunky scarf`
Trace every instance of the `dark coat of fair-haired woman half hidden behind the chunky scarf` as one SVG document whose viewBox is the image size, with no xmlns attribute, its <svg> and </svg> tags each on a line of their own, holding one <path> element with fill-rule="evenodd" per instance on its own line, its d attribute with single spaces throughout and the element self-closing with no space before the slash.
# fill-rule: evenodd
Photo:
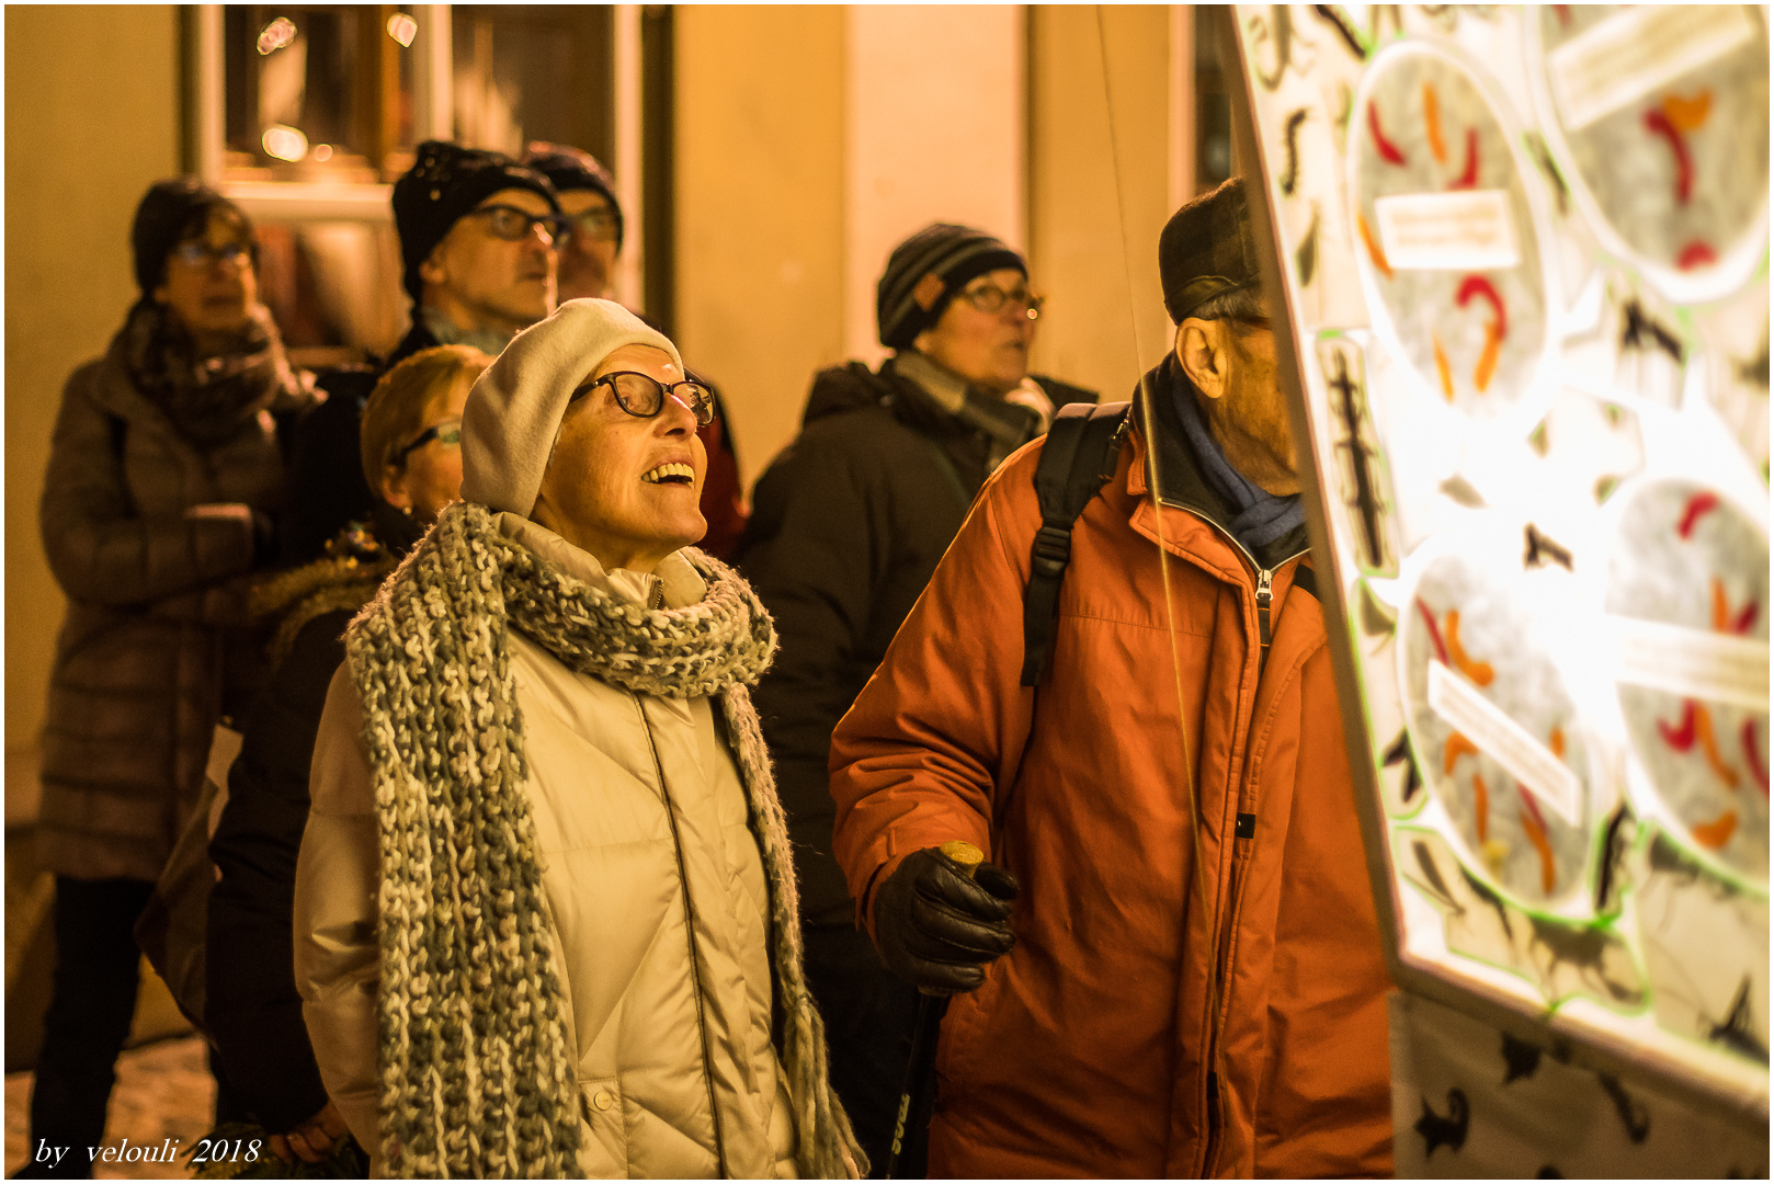
<svg viewBox="0 0 1774 1184">
<path fill-rule="evenodd" d="M 287 1131 L 326 1104 L 302 1021 L 291 928 L 314 735 L 326 687 L 344 662 L 344 627 L 417 536 L 410 518 L 378 502 L 373 534 L 339 540 L 334 557 L 312 564 L 302 595 L 279 605 L 279 637 L 293 634 L 293 641 L 247 721 L 227 806 L 209 840 L 216 884 L 204 1028 L 229 1083 L 270 1131 Z M 291 572 L 279 582 L 293 577 L 300 579 Z"/>
</svg>

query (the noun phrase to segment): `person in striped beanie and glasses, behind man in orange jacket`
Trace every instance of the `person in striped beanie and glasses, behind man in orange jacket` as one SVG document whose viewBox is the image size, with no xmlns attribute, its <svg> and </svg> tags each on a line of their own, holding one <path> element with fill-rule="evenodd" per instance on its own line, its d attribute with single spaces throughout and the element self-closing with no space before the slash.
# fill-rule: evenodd
<svg viewBox="0 0 1774 1184">
<path fill-rule="evenodd" d="M 752 492 L 740 568 L 777 621 L 782 650 L 757 689 L 802 882 L 807 985 L 827 1021 L 832 1086 L 869 1159 L 887 1161 L 917 994 L 864 934 L 832 859 L 827 754 L 962 527 L 985 479 L 1096 396 L 1029 375 L 1041 296 L 1001 240 L 935 224 L 905 240 L 876 288 L 869 371 L 820 373 L 800 437 Z M 907 1159 L 917 1175 L 917 1152 Z"/>
</svg>

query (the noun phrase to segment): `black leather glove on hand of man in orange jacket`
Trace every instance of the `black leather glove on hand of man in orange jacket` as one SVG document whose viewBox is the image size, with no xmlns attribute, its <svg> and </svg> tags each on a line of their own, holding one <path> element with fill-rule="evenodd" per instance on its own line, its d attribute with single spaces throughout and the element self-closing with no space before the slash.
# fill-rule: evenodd
<svg viewBox="0 0 1774 1184">
<path fill-rule="evenodd" d="M 1017 877 L 981 863 L 972 879 L 935 847 L 912 852 L 875 889 L 875 948 L 899 978 L 926 994 L 974 991 L 985 964 L 1009 953 Z"/>
</svg>

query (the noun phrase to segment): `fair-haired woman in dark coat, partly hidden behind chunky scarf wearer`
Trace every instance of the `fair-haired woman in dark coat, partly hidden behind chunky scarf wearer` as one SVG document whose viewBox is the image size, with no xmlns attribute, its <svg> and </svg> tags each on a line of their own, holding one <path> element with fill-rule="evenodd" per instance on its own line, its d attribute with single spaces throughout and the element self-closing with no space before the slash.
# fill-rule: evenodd
<svg viewBox="0 0 1774 1184">
<path fill-rule="evenodd" d="M 344 662 L 344 627 L 459 497 L 461 408 L 491 362 L 472 346 L 433 346 L 383 375 L 362 419 L 364 478 L 380 495 L 373 518 L 353 522 L 323 557 L 275 575 L 254 595 L 255 611 L 275 623 L 275 673 L 252 708 L 209 840 L 216 884 L 204 1026 L 241 1104 L 286 1163 L 323 1163 L 346 1138 L 314 1063 L 293 959 L 314 733 Z"/>
</svg>

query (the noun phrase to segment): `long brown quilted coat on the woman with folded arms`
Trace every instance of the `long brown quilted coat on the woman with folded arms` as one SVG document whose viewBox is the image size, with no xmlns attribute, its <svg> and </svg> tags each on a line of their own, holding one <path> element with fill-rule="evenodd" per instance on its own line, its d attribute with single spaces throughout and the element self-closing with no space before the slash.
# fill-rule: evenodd
<svg viewBox="0 0 1774 1184">
<path fill-rule="evenodd" d="M 254 513 L 284 497 L 286 392 L 199 451 L 142 394 L 122 335 L 67 380 L 39 511 L 67 616 L 50 675 L 39 854 L 57 875 L 160 875 L 216 721 L 245 708 Z M 192 517 L 193 508 L 206 508 Z"/>
</svg>

